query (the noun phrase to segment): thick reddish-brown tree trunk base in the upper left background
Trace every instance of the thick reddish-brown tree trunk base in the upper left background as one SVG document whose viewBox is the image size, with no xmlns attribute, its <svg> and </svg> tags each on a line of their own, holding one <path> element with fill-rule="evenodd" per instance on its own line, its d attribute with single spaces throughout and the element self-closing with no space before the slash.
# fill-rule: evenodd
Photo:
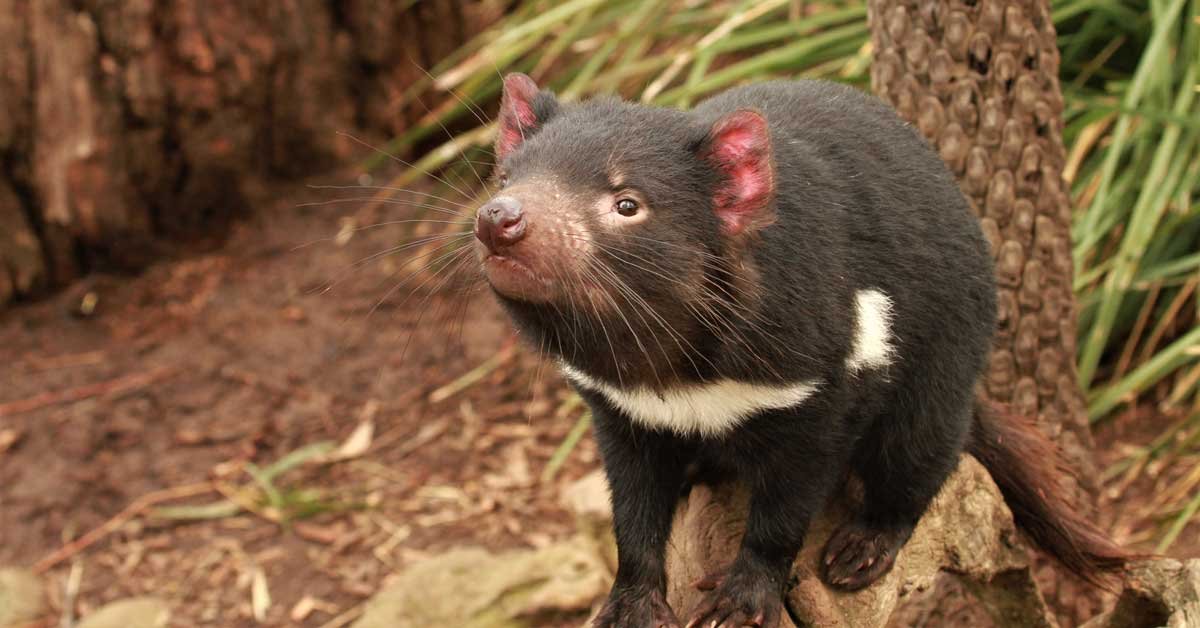
<svg viewBox="0 0 1200 628">
<path fill-rule="evenodd" d="M 491 19 L 467 0 L 0 0 L 0 306 L 217 235 L 424 114 L 400 95 Z"/>
</svg>

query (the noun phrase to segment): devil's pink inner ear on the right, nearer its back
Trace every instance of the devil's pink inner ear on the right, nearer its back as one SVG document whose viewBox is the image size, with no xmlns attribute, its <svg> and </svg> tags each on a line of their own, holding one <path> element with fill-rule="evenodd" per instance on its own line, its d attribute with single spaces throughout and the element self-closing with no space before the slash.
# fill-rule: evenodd
<svg viewBox="0 0 1200 628">
<path fill-rule="evenodd" d="M 713 208 L 725 233 L 739 235 L 774 221 L 775 168 L 762 114 L 739 109 L 718 120 L 708 133 L 704 159 L 724 175 Z"/>
</svg>

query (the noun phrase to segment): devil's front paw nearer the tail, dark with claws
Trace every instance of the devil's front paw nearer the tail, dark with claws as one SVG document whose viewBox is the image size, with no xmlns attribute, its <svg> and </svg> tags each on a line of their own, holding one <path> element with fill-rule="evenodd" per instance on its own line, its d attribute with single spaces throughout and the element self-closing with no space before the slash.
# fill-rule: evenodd
<svg viewBox="0 0 1200 628">
<path fill-rule="evenodd" d="M 686 628 L 775 628 L 784 610 L 780 587 L 763 574 L 721 572 L 696 582 L 707 591 Z"/>
</svg>

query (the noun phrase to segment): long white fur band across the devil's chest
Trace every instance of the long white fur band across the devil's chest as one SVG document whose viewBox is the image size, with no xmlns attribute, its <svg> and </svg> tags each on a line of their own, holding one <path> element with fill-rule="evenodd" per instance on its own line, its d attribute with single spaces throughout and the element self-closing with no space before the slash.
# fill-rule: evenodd
<svg viewBox="0 0 1200 628">
<path fill-rule="evenodd" d="M 820 387 L 816 381 L 767 385 L 721 379 L 656 393 L 644 387 L 623 390 L 566 364 L 562 369 L 576 385 L 600 393 L 642 425 L 701 436 L 719 436 L 757 412 L 797 406 Z"/>
</svg>

